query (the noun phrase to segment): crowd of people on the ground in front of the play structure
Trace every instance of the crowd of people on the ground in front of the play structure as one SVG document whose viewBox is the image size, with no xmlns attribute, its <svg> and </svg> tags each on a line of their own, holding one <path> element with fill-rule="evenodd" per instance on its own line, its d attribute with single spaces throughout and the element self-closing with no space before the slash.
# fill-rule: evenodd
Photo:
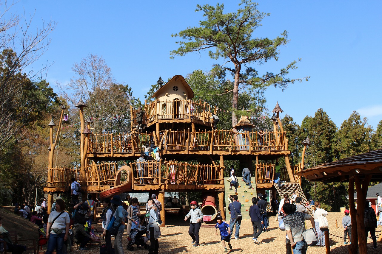
<svg viewBox="0 0 382 254">
<path fill-rule="evenodd" d="M 245 173 L 245 172 L 244 172 Z M 99 241 L 99 237 L 94 234 L 94 227 L 92 223 L 97 216 L 97 201 L 92 200 L 92 195 L 88 195 L 87 200 L 84 202 L 78 201 L 78 194 L 80 193 L 81 186 L 78 184 L 76 188 L 76 181 L 73 179 L 72 187 L 72 208 L 71 213 L 65 212 L 65 202 L 60 196 L 57 196 L 55 202 L 51 207 L 50 214 L 47 214 L 47 202 L 44 199 L 41 203 L 31 207 L 28 203 L 24 203 L 19 207 L 15 205 L 15 213 L 23 214 L 23 217 L 31 220 L 31 222 L 40 225 L 39 232 L 47 239 L 46 254 L 51 254 L 54 250 L 57 254 L 67 253 L 71 248 L 71 244 L 79 245 L 79 250 L 86 250 L 86 245 L 89 242 Z M 382 200 L 379 193 L 377 193 L 377 211 L 382 208 Z M 173 204 L 178 204 L 179 199 L 169 197 Z M 183 200 L 182 200 L 183 201 Z M 240 238 L 240 225 L 242 221 L 242 204 L 238 201 L 237 195 L 230 195 L 228 211 L 230 212 L 229 223 L 224 222 L 222 216 L 216 217 L 217 223 L 215 224 L 216 235 L 218 229 L 220 231 L 221 243 L 224 251 L 227 252 L 228 248 L 232 249 L 231 240 L 238 240 Z M 267 200 L 264 195 L 259 193 L 257 197 L 251 199 L 252 205 L 248 211 L 251 223 L 253 226 L 253 237 L 251 238 L 255 244 L 259 244 L 261 240 L 259 236 L 262 232 L 268 231 L 269 214 L 267 214 Z M 321 208 L 318 201 L 312 199 L 309 203 L 303 204 L 302 198 L 296 195 L 295 192 L 292 196 L 285 195 L 278 203 L 277 220 L 279 221 L 280 229 L 286 231 L 285 246 L 286 253 L 306 253 L 308 245 L 305 239 L 301 236 L 305 231 L 305 221 L 311 221 L 311 227 L 317 237 L 317 246 L 325 246 L 324 232 L 329 230 L 327 222 L 328 212 Z M 273 201 L 272 201 L 273 202 Z M 113 196 L 112 199 L 105 198 L 101 203 L 103 210 L 100 214 L 99 223 L 102 225 L 102 236 L 105 239 L 105 244 L 101 248 L 105 249 L 105 253 L 118 253 L 123 254 L 124 248 L 122 246 L 123 235 L 127 235 L 129 241 L 128 249 L 136 244 L 137 248 L 148 248 L 149 254 L 156 254 L 159 252 L 158 238 L 161 234 L 160 220 L 162 207 L 165 204 L 157 200 L 155 194 L 147 200 L 145 216 L 141 214 L 141 207 L 138 198 L 131 198 L 126 196 L 125 201 L 122 201 L 120 196 Z M 313 216 L 308 214 L 308 210 L 312 207 Z M 345 216 L 342 219 L 342 226 L 344 229 L 344 244 L 351 244 L 351 217 L 350 211 L 345 210 Z M 196 201 L 191 201 L 190 209 L 184 220 L 190 222 L 188 233 L 191 236 L 191 244 L 195 247 L 199 245 L 199 230 L 203 221 L 203 213 L 200 206 Z M 6 239 L 7 231 L 2 227 L 0 217 L 0 237 Z M 377 222 L 376 213 L 374 209 L 369 206 L 366 201 L 365 207 L 365 230 L 366 235 L 370 232 L 373 240 L 373 248 L 376 247 L 375 229 L 380 225 L 380 220 Z M 126 228 L 126 229 L 125 229 Z M 112 237 L 115 237 L 114 244 L 112 245 Z M 148 244 L 150 241 L 150 244 Z M 15 254 L 22 253 L 24 246 L 7 243 L 6 245 L 0 244 L 1 248 L 6 248 L 13 251 Z M 131 250 L 131 249 L 130 249 Z"/>
</svg>

